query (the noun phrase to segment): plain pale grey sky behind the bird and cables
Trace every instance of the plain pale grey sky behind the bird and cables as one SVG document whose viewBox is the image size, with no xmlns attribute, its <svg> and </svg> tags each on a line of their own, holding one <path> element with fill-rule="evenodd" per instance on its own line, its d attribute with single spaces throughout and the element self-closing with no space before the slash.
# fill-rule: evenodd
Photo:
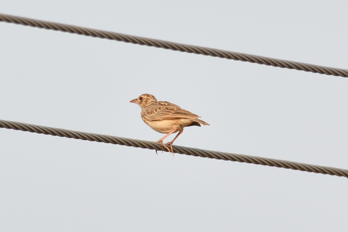
<svg viewBox="0 0 348 232">
<path fill-rule="evenodd" d="M 348 69 L 348 1 L 15 1 L 0 12 Z M 0 23 L 1 119 L 348 169 L 348 79 Z M 172 139 L 173 136 L 169 137 Z M 348 179 L 0 129 L 1 231 L 347 231 Z M 165 140 L 166 141 L 166 140 Z M 170 141 L 170 140 L 167 140 Z"/>
</svg>

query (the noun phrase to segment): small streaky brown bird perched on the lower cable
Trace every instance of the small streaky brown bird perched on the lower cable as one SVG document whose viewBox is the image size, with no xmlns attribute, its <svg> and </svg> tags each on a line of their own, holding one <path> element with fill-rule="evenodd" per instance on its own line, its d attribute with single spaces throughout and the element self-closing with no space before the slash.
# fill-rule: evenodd
<svg viewBox="0 0 348 232">
<path fill-rule="evenodd" d="M 181 109 L 179 106 L 170 102 L 159 102 L 156 97 L 151 94 L 142 94 L 138 98 L 130 101 L 136 103 L 141 107 L 141 118 L 143 121 L 156 130 L 159 133 L 166 134 L 160 138 L 157 143 L 161 143 L 168 152 L 172 152 L 174 155 L 172 144 L 175 139 L 182 133 L 184 127 L 198 126 L 200 123 L 208 125 L 205 121 L 202 121 L 198 115 L 193 114 L 187 110 Z M 168 142 L 171 149 L 163 143 L 163 139 L 168 137 L 172 133 L 177 133 L 175 138 Z M 156 151 L 157 153 L 157 151 Z"/>
</svg>

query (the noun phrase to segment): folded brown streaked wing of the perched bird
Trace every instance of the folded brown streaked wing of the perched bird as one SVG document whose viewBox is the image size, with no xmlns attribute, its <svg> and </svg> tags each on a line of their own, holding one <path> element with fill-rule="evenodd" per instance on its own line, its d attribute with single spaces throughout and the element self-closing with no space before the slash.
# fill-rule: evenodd
<svg viewBox="0 0 348 232">
<path fill-rule="evenodd" d="M 170 102 L 155 102 L 145 107 L 142 111 L 145 119 L 150 121 L 164 120 L 164 119 L 197 119 L 198 115 L 191 113 L 190 111 L 181 109 L 179 106 Z"/>
</svg>

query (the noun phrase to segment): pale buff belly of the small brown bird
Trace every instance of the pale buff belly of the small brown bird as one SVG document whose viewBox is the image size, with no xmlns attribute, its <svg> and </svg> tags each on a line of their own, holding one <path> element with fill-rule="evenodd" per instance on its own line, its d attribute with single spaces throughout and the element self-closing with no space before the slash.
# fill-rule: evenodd
<svg viewBox="0 0 348 232">
<path fill-rule="evenodd" d="M 147 125 L 149 125 L 149 127 L 151 127 L 153 130 L 156 130 L 159 133 L 167 134 L 175 128 L 175 125 L 177 126 L 177 130 L 174 131 L 174 133 L 190 125 L 193 121 L 189 119 L 181 118 L 181 119 L 166 119 L 166 120 L 159 120 L 159 121 L 146 120 L 144 122 Z"/>
</svg>

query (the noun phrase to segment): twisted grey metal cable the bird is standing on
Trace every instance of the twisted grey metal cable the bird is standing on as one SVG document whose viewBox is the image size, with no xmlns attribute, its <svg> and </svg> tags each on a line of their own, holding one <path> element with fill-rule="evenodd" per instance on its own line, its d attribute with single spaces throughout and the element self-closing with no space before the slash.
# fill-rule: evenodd
<svg viewBox="0 0 348 232">
<path fill-rule="evenodd" d="M 118 144 L 118 145 L 132 146 L 132 147 L 140 147 L 144 149 L 167 152 L 167 150 L 164 149 L 164 147 L 160 143 L 131 139 L 131 138 L 122 138 L 122 137 L 110 136 L 110 135 L 100 135 L 100 134 L 94 134 L 94 133 L 58 129 L 53 127 L 38 126 L 38 125 L 32 125 L 32 124 L 27 124 L 22 122 L 0 120 L 0 128 L 29 131 L 29 132 L 37 133 L 37 134 L 53 135 L 53 136 L 82 139 L 82 140 L 95 141 L 95 142 L 101 142 L 101 143 L 111 143 L 111 144 Z M 237 161 L 237 162 L 244 162 L 244 163 L 253 163 L 253 164 L 270 166 L 270 167 L 307 171 L 310 173 L 321 173 L 321 174 L 328 174 L 332 176 L 348 177 L 348 170 L 340 169 L 340 168 L 309 165 L 306 163 L 298 163 L 298 162 L 285 161 L 285 160 L 255 157 L 251 155 L 208 151 L 203 149 L 175 146 L 175 145 L 173 145 L 173 151 L 179 154 L 206 157 L 206 158 L 217 159 L 217 160 L 229 160 L 229 161 Z"/>
</svg>

